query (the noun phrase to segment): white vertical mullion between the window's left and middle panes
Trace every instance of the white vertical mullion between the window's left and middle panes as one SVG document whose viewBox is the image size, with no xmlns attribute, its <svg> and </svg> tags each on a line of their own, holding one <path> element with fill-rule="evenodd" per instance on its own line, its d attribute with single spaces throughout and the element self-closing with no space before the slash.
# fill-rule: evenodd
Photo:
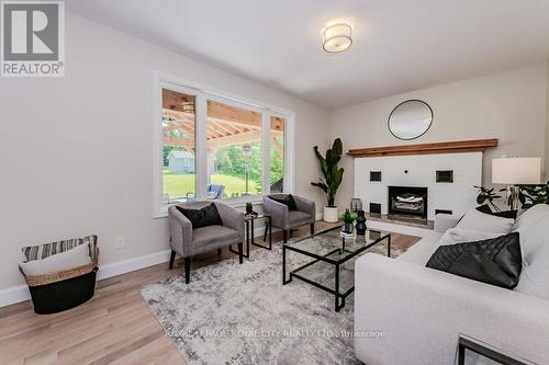
<svg viewBox="0 0 549 365">
<path fill-rule="evenodd" d="M 206 117 L 208 117 L 208 101 L 203 93 L 197 94 L 195 101 L 195 140 L 194 146 L 197 148 L 195 159 L 197 159 L 197 174 L 195 174 L 195 191 L 197 199 L 202 201 L 208 197 L 206 184 L 208 184 L 208 148 L 206 148 Z"/>
</svg>

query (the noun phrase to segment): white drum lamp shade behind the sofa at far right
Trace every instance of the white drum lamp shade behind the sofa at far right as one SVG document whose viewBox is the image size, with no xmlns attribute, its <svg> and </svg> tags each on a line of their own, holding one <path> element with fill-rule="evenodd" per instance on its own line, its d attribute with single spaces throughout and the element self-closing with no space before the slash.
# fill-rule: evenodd
<svg viewBox="0 0 549 365">
<path fill-rule="evenodd" d="M 493 184 L 539 184 L 540 182 L 541 159 L 539 157 L 492 160 Z"/>
</svg>

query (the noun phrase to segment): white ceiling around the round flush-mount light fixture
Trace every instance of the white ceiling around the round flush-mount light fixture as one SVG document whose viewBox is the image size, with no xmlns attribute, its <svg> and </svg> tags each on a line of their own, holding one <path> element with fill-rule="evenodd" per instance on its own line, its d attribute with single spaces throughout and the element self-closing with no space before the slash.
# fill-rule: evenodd
<svg viewBox="0 0 549 365">
<path fill-rule="evenodd" d="M 549 0 L 68 0 L 119 28 L 337 107 L 549 58 Z M 322 49 L 332 19 L 354 25 Z"/>
</svg>

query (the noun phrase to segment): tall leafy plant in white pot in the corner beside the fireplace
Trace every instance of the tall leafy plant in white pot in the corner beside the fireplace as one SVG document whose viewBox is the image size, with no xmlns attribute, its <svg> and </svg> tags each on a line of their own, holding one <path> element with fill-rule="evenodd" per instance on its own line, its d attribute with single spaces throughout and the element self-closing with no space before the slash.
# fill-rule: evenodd
<svg viewBox="0 0 549 365">
<path fill-rule="evenodd" d="M 324 179 L 320 179 L 320 182 L 312 182 L 311 185 L 318 186 L 324 193 L 326 193 L 327 203 L 324 207 L 324 220 L 329 223 L 338 221 L 337 207 L 335 206 L 335 196 L 337 189 L 341 184 L 344 169 L 338 168 L 337 163 L 341 160 L 343 144 L 341 139 L 337 138 L 334 140 L 334 145 L 330 149 L 326 151 L 326 157 L 323 157 L 318 152 L 318 146 L 314 147 L 314 152 L 321 164 L 321 170 Z"/>
</svg>

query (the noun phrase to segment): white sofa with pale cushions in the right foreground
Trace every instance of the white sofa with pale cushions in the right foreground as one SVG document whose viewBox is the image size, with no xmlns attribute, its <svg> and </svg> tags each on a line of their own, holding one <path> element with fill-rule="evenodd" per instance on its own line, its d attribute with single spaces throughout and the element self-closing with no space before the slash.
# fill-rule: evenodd
<svg viewBox="0 0 549 365">
<path fill-rule="evenodd" d="M 462 333 L 530 362 L 549 364 L 549 206 L 530 208 L 512 228 L 519 232 L 524 261 L 515 290 L 425 267 L 442 232 L 458 220 L 437 215 L 435 231 L 397 259 L 368 253 L 357 260 L 355 352 L 360 361 L 457 364 Z M 527 265 L 537 270 L 545 284 L 533 289 L 525 283 Z M 382 335 L 368 335 L 372 332 Z"/>
</svg>

